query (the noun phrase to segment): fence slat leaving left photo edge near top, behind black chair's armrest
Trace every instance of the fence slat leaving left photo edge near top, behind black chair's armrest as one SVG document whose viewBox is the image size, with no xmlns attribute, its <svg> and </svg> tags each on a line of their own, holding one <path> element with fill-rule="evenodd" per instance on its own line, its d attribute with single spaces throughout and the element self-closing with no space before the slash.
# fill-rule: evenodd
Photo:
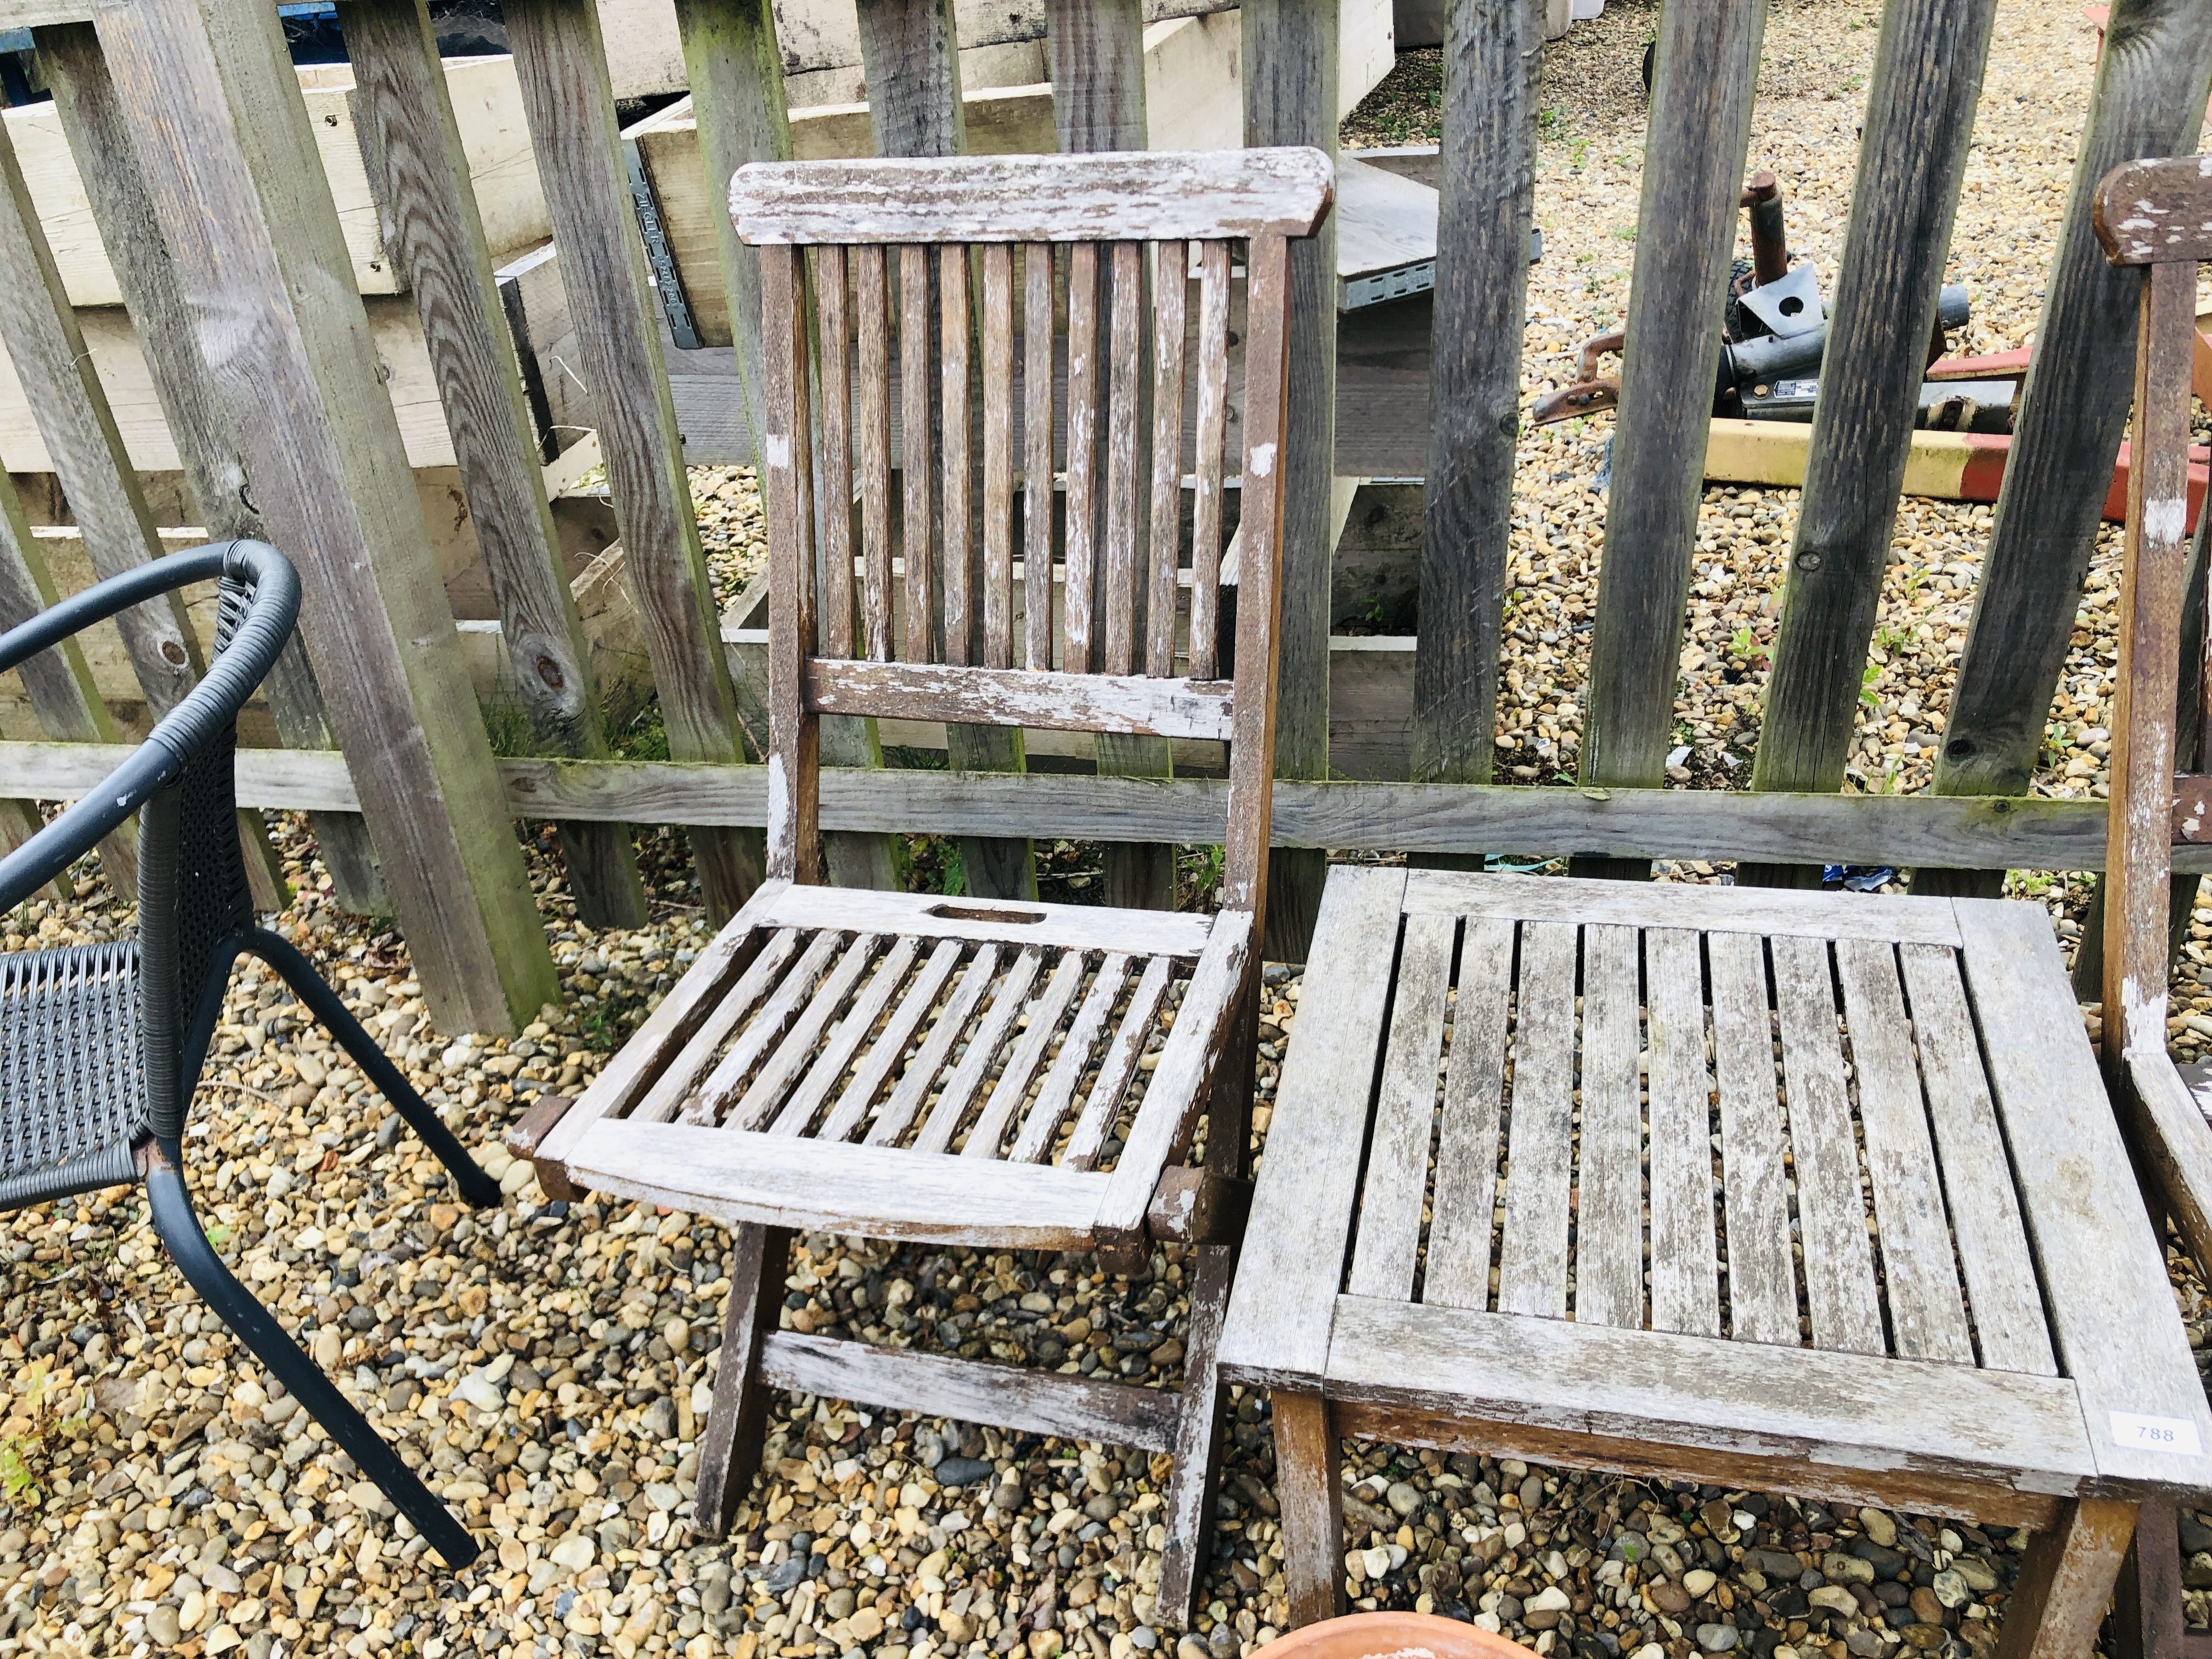
<svg viewBox="0 0 2212 1659">
<path fill-rule="evenodd" d="M 115 429 L 106 387 L 62 288 L 38 206 L 24 188 L 15 146 L 0 131 L 0 343 L 22 383 L 24 400 L 71 515 L 84 535 L 95 580 L 124 575 L 161 557 L 153 511 Z M 184 595 L 131 606 L 115 617 L 131 672 L 146 692 L 146 717 L 173 710 L 208 670 Z M 239 845 L 254 909 L 283 909 L 292 889 L 270 847 L 259 812 L 239 812 Z"/>
</svg>

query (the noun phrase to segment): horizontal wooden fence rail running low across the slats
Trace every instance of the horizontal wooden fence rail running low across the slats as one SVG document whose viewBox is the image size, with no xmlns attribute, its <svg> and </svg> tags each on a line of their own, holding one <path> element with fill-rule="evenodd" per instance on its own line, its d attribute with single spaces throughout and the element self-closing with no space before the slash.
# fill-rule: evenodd
<svg viewBox="0 0 2212 1659">
<path fill-rule="evenodd" d="M 111 743 L 0 743 L 0 799 L 69 801 L 128 754 Z M 518 818 L 768 823 L 768 768 L 670 761 L 500 761 Z M 1221 779 L 830 768 L 825 830 L 1026 834 L 1108 843 L 1221 841 Z M 334 750 L 239 750 L 239 805 L 354 812 Z M 1931 794 L 1723 794 L 1557 790 L 1522 783 L 1274 785 L 1274 845 L 1336 852 L 1847 863 L 1942 869 L 2104 869 L 2104 801 Z M 2212 843 L 2177 843 L 2174 869 L 2212 874 Z"/>
</svg>

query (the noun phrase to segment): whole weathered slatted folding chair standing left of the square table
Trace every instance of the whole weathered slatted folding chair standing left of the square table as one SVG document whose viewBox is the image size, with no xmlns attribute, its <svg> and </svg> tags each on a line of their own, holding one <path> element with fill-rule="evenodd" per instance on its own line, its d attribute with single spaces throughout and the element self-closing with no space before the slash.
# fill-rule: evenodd
<svg viewBox="0 0 2212 1659">
<path fill-rule="evenodd" d="M 1137 1444 L 1177 1455 L 1159 1601 L 1161 1617 L 1186 1617 L 1219 1418 L 1212 1345 L 1234 1252 L 1232 1237 L 1206 1241 L 1206 1217 L 1234 1206 L 1214 1203 L 1214 1188 L 1179 1166 L 1208 1108 L 1212 1181 L 1239 1183 L 1245 1164 L 1272 792 L 1285 261 L 1287 239 L 1318 226 L 1329 195 L 1329 161 L 1318 150 L 796 164 L 737 175 L 732 210 L 739 234 L 761 248 L 768 341 L 770 880 L 538 1144 L 555 1179 L 739 1228 L 743 1265 L 699 1469 L 701 1533 L 728 1526 L 759 1455 L 763 1391 L 774 1387 Z M 1250 272 L 1241 597 L 1234 677 L 1219 679 L 1239 246 Z M 1108 268 L 1113 305 L 1102 330 L 1099 279 Z M 1186 354 L 1190 268 L 1199 270 L 1199 299 Z M 980 500 L 969 436 L 971 272 L 980 272 L 982 294 Z M 1146 290 L 1150 327 L 1141 321 Z M 1051 319 L 1060 303 L 1068 316 L 1066 431 L 1053 420 Z M 942 425 L 942 467 L 927 465 L 920 442 L 905 467 L 898 637 L 894 314 L 909 394 L 902 429 L 918 440 L 929 403 L 940 405 Z M 818 414 L 810 332 L 821 343 Z M 1018 332 L 1026 369 L 1020 405 Z M 1155 422 L 1139 431 L 1148 356 Z M 856 385 L 854 398 L 847 385 Z M 1104 465 L 1095 427 L 1102 389 Z M 1179 480 L 1192 400 L 1199 482 L 1186 566 Z M 1057 630 L 1055 445 L 1066 453 L 1068 595 Z M 1148 500 L 1137 491 L 1139 445 L 1152 460 Z M 1020 637 L 1018 469 L 1026 551 Z M 858 549 L 847 515 L 854 500 Z M 1102 540 L 1093 515 L 1104 522 Z M 929 555 L 931 538 L 942 562 Z M 1186 568 L 1190 648 L 1188 677 L 1179 677 L 1175 617 Z M 1225 739 L 1221 914 L 821 887 L 823 714 Z M 896 774 L 880 787 L 896 787 Z M 1168 1026 L 1146 1071 L 1146 1048 Z M 779 1332 L 792 1228 L 1124 1259 L 1155 1239 L 1206 1241 L 1188 1383 L 1177 1396 Z"/>
</svg>

